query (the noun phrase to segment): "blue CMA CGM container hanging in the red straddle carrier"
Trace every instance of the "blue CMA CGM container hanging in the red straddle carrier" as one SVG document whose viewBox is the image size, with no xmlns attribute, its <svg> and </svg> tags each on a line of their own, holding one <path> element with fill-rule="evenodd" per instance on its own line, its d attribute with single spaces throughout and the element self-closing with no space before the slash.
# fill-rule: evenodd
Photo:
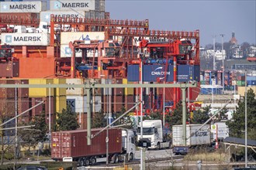
<svg viewBox="0 0 256 170">
<path fill-rule="evenodd" d="M 159 65 L 143 65 L 143 81 L 144 82 L 163 82 L 166 78 L 166 82 L 174 81 L 174 67 L 168 65 L 168 69 L 165 69 L 165 64 Z M 139 81 L 140 80 L 140 66 L 130 65 L 128 66 L 128 81 Z M 200 67 L 190 65 L 178 65 L 177 69 L 177 81 L 178 82 L 189 82 L 199 81 L 200 79 Z"/>
</svg>

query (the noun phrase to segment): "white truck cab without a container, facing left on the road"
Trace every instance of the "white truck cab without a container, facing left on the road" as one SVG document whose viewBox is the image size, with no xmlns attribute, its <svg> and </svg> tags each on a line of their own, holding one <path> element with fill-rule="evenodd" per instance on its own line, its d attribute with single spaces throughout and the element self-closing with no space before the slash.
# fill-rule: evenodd
<svg viewBox="0 0 256 170">
<path fill-rule="evenodd" d="M 151 142 L 150 149 L 171 148 L 171 138 L 164 133 L 161 120 L 145 120 L 143 121 L 143 135 L 142 138 L 147 138 Z M 140 141 L 141 123 L 137 128 L 137 140 Z"/>
</svg>

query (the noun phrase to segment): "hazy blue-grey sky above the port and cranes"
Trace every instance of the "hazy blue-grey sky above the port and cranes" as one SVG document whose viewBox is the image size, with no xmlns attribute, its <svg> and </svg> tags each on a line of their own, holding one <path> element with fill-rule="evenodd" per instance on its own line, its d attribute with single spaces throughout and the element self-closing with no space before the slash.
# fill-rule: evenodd
<svg viewBox="0 0 256 170">
<path fill-rule="evenodd" d="M 256 44 L 256 0 L 106 0 L 111 19 L 149 19 L 150 29 L 200 31 L 200 46 L 228 42 L 235 32 L 238 43 Z"/>
</svg>

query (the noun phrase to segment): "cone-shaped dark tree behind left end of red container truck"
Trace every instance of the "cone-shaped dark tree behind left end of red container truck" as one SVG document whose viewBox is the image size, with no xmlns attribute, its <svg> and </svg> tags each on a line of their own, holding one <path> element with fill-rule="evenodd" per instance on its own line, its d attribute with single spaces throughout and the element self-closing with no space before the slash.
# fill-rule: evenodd
<svg viewBox="0 0 256 170">
<path fill-rule="evenodd" d="M 62 113 L 57 113 L 56 124 L 56 131 L 71 131 L 80 127 L 77 114 L 72 111 L 70 105 L 67 105 L 67 109 L 63 109 Z"/>
</svg>

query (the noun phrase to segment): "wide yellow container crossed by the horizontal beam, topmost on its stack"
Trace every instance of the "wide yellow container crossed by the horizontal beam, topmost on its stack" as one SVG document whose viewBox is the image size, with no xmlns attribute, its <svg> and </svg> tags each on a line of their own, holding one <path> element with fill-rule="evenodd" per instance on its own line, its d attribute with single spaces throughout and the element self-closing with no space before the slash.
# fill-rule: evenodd
<svg viewBox="0 0 256 170">
<path fill-rule="evenodd" d="M 29 79 L 29 84 L 54 84 L 53 79 Z M 50 93 L 49 93 L 50 89 Z M 54 96 L 54 88 L 29 88 L 29 97 Z"/>
</svg>

